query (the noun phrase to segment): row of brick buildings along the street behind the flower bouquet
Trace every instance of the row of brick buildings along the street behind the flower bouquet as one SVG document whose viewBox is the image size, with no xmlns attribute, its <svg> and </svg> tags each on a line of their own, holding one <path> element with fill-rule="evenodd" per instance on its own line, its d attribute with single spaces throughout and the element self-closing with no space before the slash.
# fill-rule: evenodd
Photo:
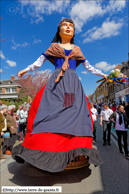
<svg viewBox="0 0 129 194">
<path fill-rule="evenodd" d="M 122 62 L 122 65 L 118 64 L 115 69 L 120 69 L 123 74 L 129 77 L 129 60 Z M 117 105 L 120 101 L 129 102 L 129 84 L 114 84 L 103 81 L 97 86 L 95 92 L 91 94 L 91 101 L 96 103 L 114 101 Z"/>
</svg>

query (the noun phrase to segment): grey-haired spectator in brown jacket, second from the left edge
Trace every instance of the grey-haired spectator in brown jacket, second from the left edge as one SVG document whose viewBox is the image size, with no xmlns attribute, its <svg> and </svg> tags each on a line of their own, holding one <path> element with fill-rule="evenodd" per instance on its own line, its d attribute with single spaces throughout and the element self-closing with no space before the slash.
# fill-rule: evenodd
<svg viewBox="0 0 129 194">
<path fill-rule="evenodd" d="M 5 113 L 5 117 L 7 120 L 7 123 L 11 125 L 11 130 L 10 131 L 10 138 L 6 138 L 4 140 L 3 146 L 6 147 L 6 152 L 5 154 L 11 155 L 11 149 L 13 145 L 15 144 L 15 140 L 17 139 L 17 122 L 16 122 L 16 117 L 14 115 L 14 110 L 16 106 L 15 105 L 10 105 L 8 106 L 8 111 Z"/>
</svg>

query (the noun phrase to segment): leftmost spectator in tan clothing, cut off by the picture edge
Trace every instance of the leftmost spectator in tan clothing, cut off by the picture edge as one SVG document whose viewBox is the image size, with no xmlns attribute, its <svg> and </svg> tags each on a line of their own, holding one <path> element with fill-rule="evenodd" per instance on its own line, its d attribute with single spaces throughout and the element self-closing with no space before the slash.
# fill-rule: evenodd
<svg viewBox="0 0 129 194">
<path fill-rule="evenodd" d="M 4 117 L 4 113 L 6 113 L 7 111 L 7 106 L 6 105 L 2 105 L 0 106 L 0 159 L 6 159 L 5 156 L 3 156 L 3 151 L 2 151 L 2 145 L 4 142 L 4 133 L 7 132 L 7 127 L 11 127 L 11 125 L 9 125 L 6 122 L 6 118 Z"/>
</svg>

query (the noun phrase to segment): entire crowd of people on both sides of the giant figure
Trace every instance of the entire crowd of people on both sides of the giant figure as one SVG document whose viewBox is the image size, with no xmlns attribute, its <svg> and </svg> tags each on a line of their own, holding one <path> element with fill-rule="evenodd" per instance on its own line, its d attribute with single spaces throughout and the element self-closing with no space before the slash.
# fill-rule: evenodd
<svg viewBox="0 0 129 194">
<path fill-rule="evenodd" d="M 29 100 L 28 103 L 24 102 L 19 105 L 18 110 L 15 112 L 15 105 L 6 106 L 0 101 L 0 159 L 6 159 L 3 152 L 5 152 L 6 155 L 11 155 L 11 150 L 16 140 L 23 142 L 31 104 L 32 100 Z M 129 102 L 125 103 L 124 101 L 120 101 L 118 106 L 116 106 L 114 101 L 109 104 L 93 104 L 90 102 L 90 108 L 94 126 L 93 141 L 96 142 L 97 118 L 98 114 L 100 114 L 100 125 L 103 126 L 103 146 L 106 144 L 111 145 L 110 135 L 113 123 L 118 137 L 119 151 L 120 153 L 125 154 L 126 158 L 129 159 L 127 149 Z M 121 143 L 122 137 L 124 142 L 124 152 Z"/>
</svg>

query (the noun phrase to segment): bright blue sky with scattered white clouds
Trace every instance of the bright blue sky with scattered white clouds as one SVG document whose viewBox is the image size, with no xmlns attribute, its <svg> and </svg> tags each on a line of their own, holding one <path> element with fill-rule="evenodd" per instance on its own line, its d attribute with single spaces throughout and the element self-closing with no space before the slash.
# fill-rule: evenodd
<svg viewBox="0 0 129 194">
<path fill-rule="evenodd" d="M 59 22 L 75 22 L 75 45 L 89 63 L 109 74 L 117 64 L 128 60 L 128 9 L 125 0 L 1 0 L 1 80 L 35 62 L 53 40 Z M 6 39 L 6 40 L 5 40 Z M 46 61 L 38 69 L 54 71 Z M 85 94 L 92 94 L 101 77 L 88 72 L 82 64 L 76 69 Z"/>
</svg>

